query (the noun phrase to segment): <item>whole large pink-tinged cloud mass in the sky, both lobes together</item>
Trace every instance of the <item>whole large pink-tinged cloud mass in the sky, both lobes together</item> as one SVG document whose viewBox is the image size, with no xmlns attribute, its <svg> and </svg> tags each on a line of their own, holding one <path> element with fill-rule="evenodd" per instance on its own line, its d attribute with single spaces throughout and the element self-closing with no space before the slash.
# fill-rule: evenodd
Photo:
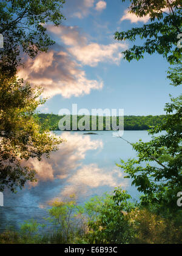
<svg viewBox="0 0 182 256">
<path fill-rule="evenodd" d="M 82 66 L 95 67 L 103 62 L 119 64 L 121 51 L 127 49 L 126 43 L 89 43 L 88 36 L 78 27 L 46 27 L 57 43 L 48 53 L 27 59 L 25 67 L 18 72 L 18 76 L 30 81 L 31 85 L 42 86 L 45 97 L 57 94 L 65 98 L 79 97 L 90 94 L 92 89 L 102 89 L 103 81 L 88 79 Z M 66 47 L 62 47 L 63 43 Z"/>
</svg>

